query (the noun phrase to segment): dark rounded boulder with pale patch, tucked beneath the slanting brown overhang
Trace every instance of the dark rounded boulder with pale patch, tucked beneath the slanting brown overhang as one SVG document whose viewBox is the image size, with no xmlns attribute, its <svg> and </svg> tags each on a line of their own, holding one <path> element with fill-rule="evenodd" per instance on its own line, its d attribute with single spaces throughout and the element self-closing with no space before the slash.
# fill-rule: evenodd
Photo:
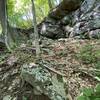
<svg viewBox="0 0 100 100">
<path fill-rule="evenodd" d="M 64 38 L 66 36 L 60 23 L 55 19 L 49 17 L 47 17 L 40 26 L 39 33 L 42 36 L 52 39 Z"/>
</svg>

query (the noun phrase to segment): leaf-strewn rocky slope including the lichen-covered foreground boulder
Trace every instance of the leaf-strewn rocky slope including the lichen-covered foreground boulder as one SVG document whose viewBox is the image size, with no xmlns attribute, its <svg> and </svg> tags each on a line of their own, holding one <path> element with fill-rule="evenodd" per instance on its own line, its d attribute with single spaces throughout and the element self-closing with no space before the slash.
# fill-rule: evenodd
<svg viewBox="0 0 100 100">
<path fill-rule="evenodd" d="M 94 72 L 94 69 L 98 70 L 100 68 L 99 40 L 78 40 L 70 38 L 54 41 L 44 39 L 42 40 L 41 51 L 41 57 L 37 60 L 35 57 L 35 48 L 24 44 L 1 60 L 0 100 L 52 99 L 50 97 L 50 94 L 53 92 L 52 88 L 50 90 L 51 92 L 45 90 L 48 88 L 50 82 L 54 84 L 54 91 L 57 95 L 59 94 L 57 90 L 61 90 L 61 92 L 66 93 L 65 95 L 69 100 L 75 100 L 77 95 L 80 94 L 82 87 L 95 87 L 100 82 L 95 77 L 98 75 L 97 72 Z M 25 74 L 22 69 L 26 65 L 27 68 L 24 69 Z M 42 68 L 39 73 L 38 68 Z M 34 73 L 34 70 L 37 72 L 35 71 Z M 51 79 L 48 75 L 51 75 Z M 56 75 L 56 80 L 60 79 L 61 81 L 63 79 L 63 81 L 61 83 L 59 81 L 55 83 L 56 81 L 53 80 L 52 75 Z M 32 76 L 34 77 L 33 80 Z M 46 85 L 46 88 L 41 88 L 41 84 L 34 84 L 34 82 L 41 83 L 43 87 Z M 51 83 L 49 86 L 52 86 Z M 33 89 L 36 90 L 37 86 L 38 91 L 34 92 Z M 65 90 L 62 87 L 67 92 L 64 92 Z M 56 97 L 54 94 L 52 96 Z"/>
</svg>

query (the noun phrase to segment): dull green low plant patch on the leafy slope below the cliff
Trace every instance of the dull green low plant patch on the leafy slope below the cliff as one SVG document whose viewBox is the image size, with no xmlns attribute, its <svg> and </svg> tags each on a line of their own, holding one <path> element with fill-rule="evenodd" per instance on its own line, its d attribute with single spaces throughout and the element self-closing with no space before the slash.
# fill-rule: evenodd
<svg viewBox="0 0 100 100">
<path fill-rule="evenodd" d="M 96 66 L 99 65 L 99 59 L 100 59 L 100 49 L 94 48 L 93 45 L 87 44 L 85 45 L 81 50 L 80 53 L 77 55 L 77 57 L 82 61 L 84 64 L 91 64 L 95 63 Z M 100 67 L 99 67 L 100 68 Z"/>
</svg>

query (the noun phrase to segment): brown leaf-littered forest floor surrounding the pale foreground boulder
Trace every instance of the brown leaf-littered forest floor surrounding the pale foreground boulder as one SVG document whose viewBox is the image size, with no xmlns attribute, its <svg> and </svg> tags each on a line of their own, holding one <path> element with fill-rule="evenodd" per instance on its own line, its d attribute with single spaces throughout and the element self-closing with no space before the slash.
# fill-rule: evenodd
<svg viewBox="0 0 100 100">
<path fill-rule="evenodd" d="M 26 83 L 22 87 L 20 77 L 21 66 L 26 62 L 34 61 L 34 51 L 33 47 L 22 45 L 11 54 L 3 55 L 1 52 L 0 100 L 11 97 L 15 98 L 13 100 L 25 100 L 22 99 L 24 96 L 30 98 L 29 100 L 34 98 L 32 86 Z M 44 39 L 41 51 L 41 58 L 50 62 L 53 65 L 52 69 L 65 75 L 68 92 L 73 100 L 80 94 L 80 89 L 83 87 L 95 87 L 100 83 L 98 79 L 100 74 L 94 72 L 98 68 L 100 70 L 100 40 Z M 36 100 L 42 100 L 42 98 Z"/>
</svg>

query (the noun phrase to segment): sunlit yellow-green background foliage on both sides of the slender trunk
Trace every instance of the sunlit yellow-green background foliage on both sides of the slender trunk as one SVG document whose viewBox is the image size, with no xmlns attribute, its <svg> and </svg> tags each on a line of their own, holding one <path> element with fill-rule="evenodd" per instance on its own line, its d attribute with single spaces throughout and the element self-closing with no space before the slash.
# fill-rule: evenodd
<svg viewBox="0 0 100 100">
<path fill-rule="evenodd" d="M 31 0 L 8 0 L 9 23 L 15 27 L 32 27 L 32 4 Z M 48 0 L 35 0 L 37 22 L 47 16 L 49 11 Z"/>
</svg>

